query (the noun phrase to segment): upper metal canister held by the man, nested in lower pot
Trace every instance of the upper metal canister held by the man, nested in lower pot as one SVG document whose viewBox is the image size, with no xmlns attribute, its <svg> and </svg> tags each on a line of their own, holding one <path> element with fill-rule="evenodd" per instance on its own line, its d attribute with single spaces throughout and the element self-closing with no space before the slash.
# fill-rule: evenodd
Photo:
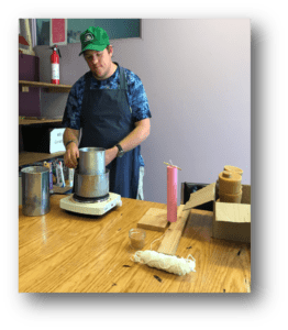
<svg viewBox="0 0 288 330">
<path fill-rule="evenodd" d="M 104 175 L 106 174 L 106 148 L 81 147 L 79 148 L 79 174 Z"/>
</svg>

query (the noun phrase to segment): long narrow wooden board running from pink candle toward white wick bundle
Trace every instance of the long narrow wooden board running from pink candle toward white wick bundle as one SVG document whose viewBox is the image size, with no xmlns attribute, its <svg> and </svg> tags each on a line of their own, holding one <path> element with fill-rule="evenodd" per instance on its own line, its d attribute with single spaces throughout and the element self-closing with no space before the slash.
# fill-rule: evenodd
<svg viewBox="0 0 288 330">
<path fill-rule="evenodd" d="M 169 255 L 175 255 L 182 235 L 184 228 L 190 215 L 190 209 L 184 211 L 185 205 L 181 205 L 177 210 L 177 221 L 171 222 L 166 230 L 164 239 L 157 252 Z"/>
</svg>

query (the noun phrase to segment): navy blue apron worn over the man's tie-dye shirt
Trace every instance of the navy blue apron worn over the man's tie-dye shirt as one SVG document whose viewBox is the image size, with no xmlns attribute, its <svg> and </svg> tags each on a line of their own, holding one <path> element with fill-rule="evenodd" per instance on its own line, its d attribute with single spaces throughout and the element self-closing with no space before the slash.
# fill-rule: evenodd
<svg viewBox="0 0 288 330">
<path fill-rule="evenodd" d="M 115 63 L 117 64 L 117 63 Z M 118 65 L 118 64 L 117 64 Z M 90 89 L 92 73 L 87 73 L 81 109 L 81 147 L 111 148 L 134 129 L 132 111 L 128 102 L 124 68 L 120 69 L 119 89 Z M 109 191 L 121 197 L 137 197 L 140 177 L 140 145 L 115 157 L 106 168 L 110 169 Z"/>
</svg>

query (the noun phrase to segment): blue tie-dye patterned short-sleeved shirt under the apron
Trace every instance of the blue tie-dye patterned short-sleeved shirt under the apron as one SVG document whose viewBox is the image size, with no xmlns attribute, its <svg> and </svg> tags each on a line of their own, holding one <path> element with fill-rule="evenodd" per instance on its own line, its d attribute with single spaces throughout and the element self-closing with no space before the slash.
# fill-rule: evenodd
<svg viewBox="0 0 288 330">
<path fill-rule="evenodd" d="M 152 118 L 144 86 L 137 75 L 124 68 L 124 74 L 128 82 L 128 100 L 132 110 L 133 122 Z M 73 130 L 80 130 L 80 116 L 84 99 L 84 90 L 86 84 L 86 74 L 81 76 L 71 87 L 68 95 L 67 105 L 65 108 L 62 124 L 65 128 Z M 106 80 L 97 80 L 91 77 L 91 89 L 118 89 L 120 86 L 120 70 L 119 66 L 114 74 Z M 140 166 L 144 166 L 142 155 L 140 155 Z"/>
</svg>

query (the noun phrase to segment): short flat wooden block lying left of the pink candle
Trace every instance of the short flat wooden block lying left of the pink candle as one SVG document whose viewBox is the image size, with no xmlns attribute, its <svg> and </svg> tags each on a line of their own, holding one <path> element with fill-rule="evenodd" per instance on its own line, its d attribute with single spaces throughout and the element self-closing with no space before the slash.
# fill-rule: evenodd
<svg viewBox="0 0 288 330">
<path fill-rule="evenodd" d="M 137 228 L 164 232 L 168 223 L 167 210 L 149 208 L 140 219 Z"/>
</svg>

